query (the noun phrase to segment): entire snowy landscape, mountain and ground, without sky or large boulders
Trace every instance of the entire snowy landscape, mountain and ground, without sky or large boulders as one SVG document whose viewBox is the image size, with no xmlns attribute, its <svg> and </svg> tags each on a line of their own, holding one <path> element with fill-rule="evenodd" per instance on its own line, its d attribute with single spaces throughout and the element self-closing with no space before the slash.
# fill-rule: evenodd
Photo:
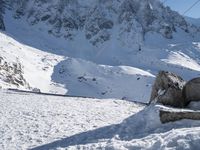
<svg viewBox="0 0 200 150">
<path fill-rule="evenodd" d="M 199 77 L 199 20 L 159 0 L 0 3 L 0 149 L 199 146 L 199 121 L 162 125 L 162 106 L 134 103 L 159 70 Z"/>
</svg>

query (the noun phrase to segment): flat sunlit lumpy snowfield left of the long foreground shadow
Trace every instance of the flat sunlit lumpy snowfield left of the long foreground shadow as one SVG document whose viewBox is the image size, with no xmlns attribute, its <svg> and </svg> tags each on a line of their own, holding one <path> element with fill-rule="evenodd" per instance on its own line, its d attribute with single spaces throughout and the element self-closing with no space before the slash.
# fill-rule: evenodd
<svg viewBox="0 0 200 150">
<path fill-rule="evenodd" d="M 84 99 L 0 92 L 0 149 L 28 149 L 120 123 L 143 106 L 115 99 Z"/>
</svg>

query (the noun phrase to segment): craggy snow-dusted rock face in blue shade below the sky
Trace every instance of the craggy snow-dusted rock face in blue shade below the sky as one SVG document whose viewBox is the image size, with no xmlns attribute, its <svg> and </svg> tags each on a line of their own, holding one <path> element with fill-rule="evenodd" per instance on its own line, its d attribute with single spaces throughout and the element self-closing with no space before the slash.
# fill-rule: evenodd
<svg viewBox="0 0 200 150">
<path fill-rule="evenodd" d="M 115 26 L 119 26 L 116 31 L 119 36 L 132 34 L 133 41 L 144 38 L 149 31 L 170 39 L 176 28 L 184 31 L 189 28 L 181 15 L 159 0 L 94 0 L 91 4 L 82 0 L 7 0 L 7 3 L 16 19 L 26 18 L 30 25 L 43 22 L 48 25 L 49 34 L 67 40 L 73 40 L 76 31 L 82 31 L 93 45 L 110 40 Z"/>
</svg>

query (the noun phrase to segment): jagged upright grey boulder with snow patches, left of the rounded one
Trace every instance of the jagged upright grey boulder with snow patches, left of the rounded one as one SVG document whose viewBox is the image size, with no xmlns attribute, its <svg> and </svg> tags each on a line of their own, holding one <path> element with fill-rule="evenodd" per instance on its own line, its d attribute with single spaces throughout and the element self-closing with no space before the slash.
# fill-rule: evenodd
<svg viewBox="0 0 200 150">
<path fill-rule="evenodd" d="M 182 96 L 182 89 L 185 81 L 178 75 L 160 71 L 153 85 L 150 103 L 158 102 L 173 107 L 184 107 L 185 99 Z"/>
</svg>

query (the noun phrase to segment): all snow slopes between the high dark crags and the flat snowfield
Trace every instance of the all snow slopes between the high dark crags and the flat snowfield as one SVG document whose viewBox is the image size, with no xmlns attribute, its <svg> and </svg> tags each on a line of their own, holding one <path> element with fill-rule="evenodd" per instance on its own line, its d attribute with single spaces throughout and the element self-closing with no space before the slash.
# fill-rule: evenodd
<svg viewBox="0 0 200 150">
<path fill-rule="evenodd" d="M 4 23 L 1 56 L 23 65 L 27 86 L 17 87 L 1 78 L 3 88 L 147 102 L 159 70 L 175 72 L 186 80 L 200 73 L 200 42 L 182 30 L 173 33 L 173 39 L 148 32 L 138 51 L 129 37 L 129 44 L 116 39 L 118 30 L 114 29 L 113 38 L 96 47 L 80 31 L 72 41 L 55 37 L 43 23 L 30 26 L 24 18 L 14 19 L 10 11 Z"/>
</svg>

